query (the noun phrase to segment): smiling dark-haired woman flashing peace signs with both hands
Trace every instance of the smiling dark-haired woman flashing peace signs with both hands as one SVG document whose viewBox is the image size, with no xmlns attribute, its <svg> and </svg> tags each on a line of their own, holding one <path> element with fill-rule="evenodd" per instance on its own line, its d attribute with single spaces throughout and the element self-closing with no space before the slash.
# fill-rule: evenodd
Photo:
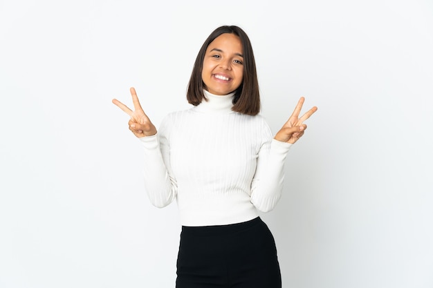
<svg viewBox="0 0 433 288">
<path fill-rule="evenodd" d="M 192 108 L 170 113 L 158 133 L 131 88 L 129 130 L 145 151 L 151 203 L 176 199 L 182 232 L 177 288 L 281 287 L 275 242 L 258 211 L 283 188 L 291 144 L 304 135 L 304 98 L 273 138 L 258 115 L 259 85 L 250 40 L 237 26 L 216 28 L 201 47 L 187 90 Z"/>
</svg>

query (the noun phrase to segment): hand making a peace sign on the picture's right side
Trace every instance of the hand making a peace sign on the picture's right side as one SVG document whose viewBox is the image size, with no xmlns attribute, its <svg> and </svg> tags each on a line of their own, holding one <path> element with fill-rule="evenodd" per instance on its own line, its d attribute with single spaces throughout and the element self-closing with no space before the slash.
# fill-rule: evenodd
<svg viewBox="0 0 433 288">
<path fill-rule="evenodd" d="M 304 131 L 306 129 L 306 124 L 304 121 L 308 119 L 315 111 L 317 111 L 317 107 L 314 106 L 310 110 L 308 110 L 302 117 L 299 117 L 302 109 L 302 105 L 304 104 L 304 97 L 300 98 L 300 101 L 297 102 L 295 111 L 293 111 L 290 118 L 288 118 L 286 124 L 277 132 L 275 135 L 275 140 L 287 143 L 295 143 L 297 140 L 304 135 Z"/>
</svg>

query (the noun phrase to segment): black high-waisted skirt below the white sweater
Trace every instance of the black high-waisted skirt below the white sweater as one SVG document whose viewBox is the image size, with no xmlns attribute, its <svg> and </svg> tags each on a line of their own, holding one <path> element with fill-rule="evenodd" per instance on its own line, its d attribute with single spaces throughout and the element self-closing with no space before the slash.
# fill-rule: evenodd
<svg viewBox="0 0 433 288">
<path fill-rule="evenodd" d="M 259 218 L 182 227 L 176 288 L 281 288 L 275 240 Z"/>
</svg>

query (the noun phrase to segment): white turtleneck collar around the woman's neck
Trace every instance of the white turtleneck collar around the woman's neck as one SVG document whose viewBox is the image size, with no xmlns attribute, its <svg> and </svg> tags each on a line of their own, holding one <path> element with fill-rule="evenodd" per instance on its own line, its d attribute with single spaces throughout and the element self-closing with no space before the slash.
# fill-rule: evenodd
<svg viewBox="0 0 433 288">
<path fill-rule="evenodd" d="M 194 107 L 195 111 L 212 114 L 233 113 L 232 101 L 234 98 L 234 92 L 228 95 L 214 95 L 209 93 L 207 90 L 203 90 L 203 93 L 208 101 L 203 99 L 199 105 Z"/>
</svg>

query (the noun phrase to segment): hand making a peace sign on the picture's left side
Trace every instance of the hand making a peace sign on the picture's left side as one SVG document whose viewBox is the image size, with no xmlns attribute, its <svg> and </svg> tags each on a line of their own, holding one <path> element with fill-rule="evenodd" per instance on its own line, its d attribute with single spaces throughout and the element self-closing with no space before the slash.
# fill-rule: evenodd
<svg viewBox="0 0 433 288">
<path fill-rule="evenodd" d="M 138 101 L 136 89 L 133 87 L 129 89 L 131 91 L 132 103 L 134 111 L 128 108 L 125 104 L 118 101 L 118 99 L 113 99 L 113 104 L 118 106 L 122 111 L 125 111 L 131 117 L 129 120 L 129 130 L 136 135 L 136 137 L 145 137 L 156 134 L 156 128 L 152 122 L 150 122 L 149 117 L 142 110 L 140 102 Z"/>
</svg>

